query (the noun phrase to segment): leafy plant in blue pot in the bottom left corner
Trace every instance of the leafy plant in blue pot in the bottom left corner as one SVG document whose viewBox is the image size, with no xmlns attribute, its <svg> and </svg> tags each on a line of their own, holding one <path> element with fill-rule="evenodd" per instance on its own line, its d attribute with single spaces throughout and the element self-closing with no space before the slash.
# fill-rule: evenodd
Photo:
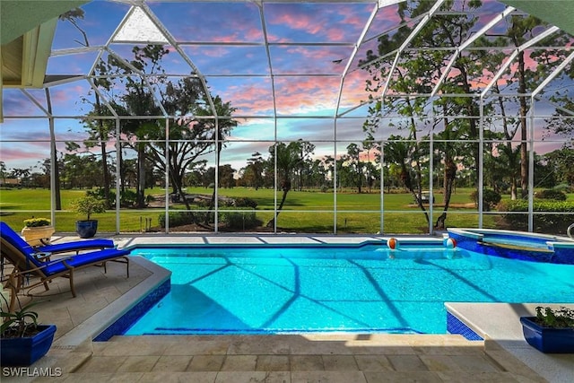
<svg viewBox="0 0 574 383">
<path fill-rule="evenodd" d="M 1 286 L 0 365 L 30 366 L 48 353 L 56 326 L 38 323 L 38 313 L 31 308 L 39 302 L 30 302 L 21 309 L 11 311 L 10 300 Z M 15 294 L 13 290 L 12 294 Z"/>
</svg>

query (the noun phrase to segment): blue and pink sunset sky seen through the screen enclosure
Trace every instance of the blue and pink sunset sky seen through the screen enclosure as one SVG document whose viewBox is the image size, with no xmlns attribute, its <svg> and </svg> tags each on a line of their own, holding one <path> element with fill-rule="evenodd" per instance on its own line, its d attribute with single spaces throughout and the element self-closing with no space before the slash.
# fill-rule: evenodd
<svg viewBox="0 0 574 383">
<path fill-rule="evenodd" d="M 239 126 L 230 136 L 237 142 L 228 145 L 222 159 L 235 167 L 252 152 L 265 154 L 275 138 L 313 142 L 319 157 L 333 153 L 334 144 L 324 142 L 334 140 L 335 135 L 343 141 L 336 145 L 339 153 L 352 141 L 360 143 L 364 139 L 361 126 L 368 109 L 361 102 L 368 100 L 365 81 L 370 76 L 359 68 L 359 61 L 369 49 L 377 50 L 379 35 L 396 32 L 400 22 L 396 4 L 378 9 L 377 2 L 264 2 L 261 8 L 250 2 L 150 1 L 144 2 L 143 8 L 132 7 L 131 3 L 97 0 L 83 5 L 85 17 L 78 20 L 78 25 L 87 33 L 88 48 L 83 47 L 83 35 L 71 22 L 58 22 L 47 74 L 79 76 L 50 88 L 59 151 L 64 151 L 65 141 L 82 142 L 86 136 L 83 126 L 74 119 L 91 109 L 83 102 L 83 98 L 93 98 L 83 76 L 90 74 L 99 55 L 106 58 L 112 52 L 133 59 L 131 49 L 138 41 L 140 46 L 161 43 L 170 50 L 161 63 L 170 80 L 175 82 L 189 74 L 204 76 L 213 96 L 219 95 L 238 109 L 234 118 Z M 466 7 L 464 1 L 455 4 L 456 12 Z M 479 16 L 474 30 L 481 30 L 505 8 L 497 1 L 484 1 L 474 12 Z M 420 22 L 419 18 L 411 20 L 409 14 L 405 19 L 410 27 Z M 508 22 L 502 20 L 485 35 L 500 34 L 507 27 Z M 536 33 L 546 28 L 550 26 Z M 511 51 L 509 47 L 509 54 Z M 536 64 L 527 62 L 532 67 Z M 516 64 L 512 64 L 505 75 L 511 76 L 515 70 Z M 448 76 L 455 74 L 452 69 Z M 480 91 L 492 76 L 484 73 L 475 78 L 475 91 Z M 500 82 L 505 83 L 504 79 L 502 76 Z M 560 78 L 548 85 L 562 86 L 571 91 L 571 83 L 564 85 Z M 509 94 L 512 92 L 509 89 Z M 46 105 L 44 90 L 29 90 L 26 94 L 4 88 L 0 161 L 9 169 L 34 166 L 48 158 L 48 120 L 42 110 Z M 536 108 L 550 110 L 550 105 L 541 100 Z M 535 125 L 543 120 L 535 119 Z M 391 133 L 390 129 L 381 129 L 377 138 Z M 542 132 L 537 130 L 535 135 L 540 137 Z M 34 142 L 18 142 L 22 140 Z"/>
</svg>

